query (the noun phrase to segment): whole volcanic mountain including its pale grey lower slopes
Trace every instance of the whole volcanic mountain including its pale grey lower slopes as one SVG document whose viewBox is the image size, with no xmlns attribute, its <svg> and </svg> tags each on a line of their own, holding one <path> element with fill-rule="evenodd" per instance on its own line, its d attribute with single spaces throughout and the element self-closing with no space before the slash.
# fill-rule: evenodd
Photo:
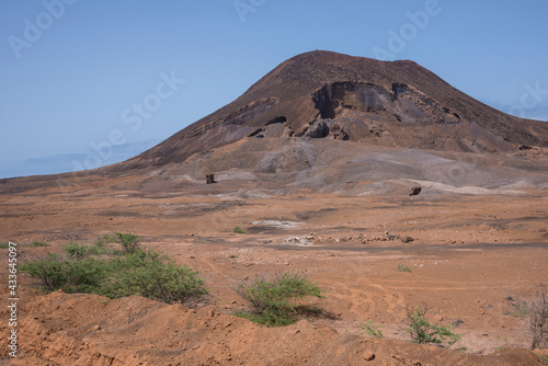
<svg viewBox="0 0 548 366">
<path fill-rule="evenodd" d="M 548 123 L 496 111 L 413 61 L 321 50 L 284 61 L 230 104 L 133 159 L 9 180 L 0 192 L 128 175 L 144 182 L 139 190 L 165 192 L 199 187 L 208 173 L 242 192 L 383 194 L 414 183 L 446 192 L 546 188 L 546 171 Z"/>
</svg>

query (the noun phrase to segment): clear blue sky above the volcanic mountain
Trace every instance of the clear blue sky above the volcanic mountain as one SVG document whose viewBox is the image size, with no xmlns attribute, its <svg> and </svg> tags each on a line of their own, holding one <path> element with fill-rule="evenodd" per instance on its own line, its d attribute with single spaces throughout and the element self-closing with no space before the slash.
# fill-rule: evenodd
<svg viewBox="0 0 548 366">
<path fill-rule="evenodd" d="M 0 178 L 128 159 L 297 54 L 412 59 L 548 119 L 548 2 L 0 1 Z"/>
</svg>

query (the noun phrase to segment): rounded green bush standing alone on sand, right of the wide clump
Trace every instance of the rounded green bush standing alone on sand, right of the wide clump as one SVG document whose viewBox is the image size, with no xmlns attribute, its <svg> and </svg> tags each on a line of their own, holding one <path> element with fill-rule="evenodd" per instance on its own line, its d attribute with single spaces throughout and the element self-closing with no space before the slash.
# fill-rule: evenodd
<svg viewBox="0 0 548 366">
<path fill-rule="evenodd" d="M 299 313 L 318 313 L 320 309 L 299 305 L 308 297 L 322 298 L 321 289 L 305 276 L 284 273 L 274 277 L 258 276 L 237 288 L 238 293 L 253 307 L 252 312 L 237 314 L 261 324 L 288 325 Z"/>
</svg>

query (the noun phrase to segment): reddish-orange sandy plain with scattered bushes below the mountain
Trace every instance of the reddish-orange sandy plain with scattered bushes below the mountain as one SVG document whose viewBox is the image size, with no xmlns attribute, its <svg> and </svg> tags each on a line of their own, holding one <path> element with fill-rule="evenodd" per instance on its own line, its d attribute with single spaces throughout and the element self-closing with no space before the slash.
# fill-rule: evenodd
<svg viewBox="0 0 548 366">
<path fill-rule="evenodd" d="M 548 198 L 540 191 L 244 197 L 246 182 L 149 194 L 116 188 L 139 186 L 136 178 L 112 183 L 4 194 L 2 240 L 16 242 L 24 261 L 68 241 L 136 233 L 146 248 L 201 271 L 212 301 L 189 309 L 140 297 L 43 296 L 20 274 L 13 365 L 541 365 L 506 300 L 548 278 Z M 249 233 L 230 232 L 236 226 Z M 311 244 L 297 245 L 295 237 Z M 412 271 L 398 272 L 400 264 Z M 231 314 L 248 306 L 238 283 L 283 272 L 318 283 L 326 298 L 313 305 L 330 316 L 267 328 Z M 453 350 L 406 342 L 406 308 L 422 304 L 436 324 L 461 321 Z M 387 339 L 364 335 L 359 325 L 369 320 Z M 3 334 L 7 322 L 1 327 Z M 9 362 L 4 336 L 0 350 Z"/>
</svg>

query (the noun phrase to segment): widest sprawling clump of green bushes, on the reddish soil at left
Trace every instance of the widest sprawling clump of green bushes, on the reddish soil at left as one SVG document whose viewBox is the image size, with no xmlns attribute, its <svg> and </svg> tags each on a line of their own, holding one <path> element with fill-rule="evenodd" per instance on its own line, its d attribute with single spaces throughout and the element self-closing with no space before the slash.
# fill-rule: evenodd
<svg viewBox="0 0 548 366">
<path fill-rule="evenodd" d="M 61 253 L 27 261 L 23 272 L 41 281 L 46 291 L 99 294 L 109 298 L 140 295 L 167 304 L 199 300 L 207 295 L 198 272 L 179 266 L 165 255 L 135 249 L 110 254 L 105 247 L 67 244 Z"/>
</svg>

